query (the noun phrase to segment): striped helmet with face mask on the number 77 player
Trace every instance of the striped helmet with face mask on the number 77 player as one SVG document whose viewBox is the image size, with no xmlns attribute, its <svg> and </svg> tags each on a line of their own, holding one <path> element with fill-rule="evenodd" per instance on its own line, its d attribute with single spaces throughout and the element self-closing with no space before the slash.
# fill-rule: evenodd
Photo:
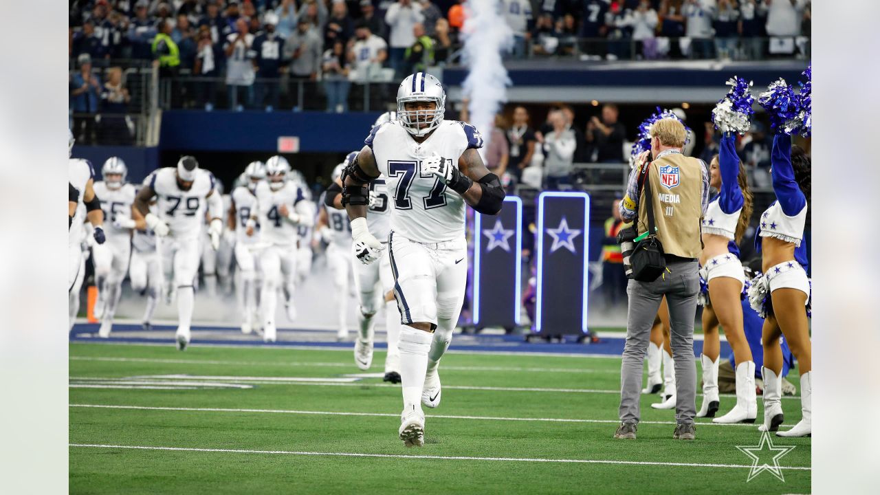
<svg viewBox="0 0 880 495">
<path fill-rule="evenodd" d="M 413 101 L 433 101 L 433 110 L 407 110 Z M 397 88 L 397 117 L 404 129 L 413 136 L 427 136 L 443 122 L 446 111 L 446 92 L 434 76 L 416 72 L 400 83 Z M 424 127 L 422 127 L 424 126 Z"/>
</svg>

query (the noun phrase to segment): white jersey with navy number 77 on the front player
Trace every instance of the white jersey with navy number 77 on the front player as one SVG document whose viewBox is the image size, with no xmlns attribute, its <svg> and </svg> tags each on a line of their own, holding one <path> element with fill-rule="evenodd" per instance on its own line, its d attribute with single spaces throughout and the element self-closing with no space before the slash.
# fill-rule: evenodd
<svg viewBox="0 0 880 495">
<path fill-rule="evenodd" d="M 385 176 L 392 231 L 417 242 L 465 237 L 464 199 L 447 190 L 436 175 L 422 174 L 422 160 L 436 153 L 458 166 L 468 148 L 482 147 L 477 129 L 465 122 L 443 121 L 428 139 L 416 143 L 398 122 L 385 122 L 373 128 L 364 142 Z"/>
</svg>

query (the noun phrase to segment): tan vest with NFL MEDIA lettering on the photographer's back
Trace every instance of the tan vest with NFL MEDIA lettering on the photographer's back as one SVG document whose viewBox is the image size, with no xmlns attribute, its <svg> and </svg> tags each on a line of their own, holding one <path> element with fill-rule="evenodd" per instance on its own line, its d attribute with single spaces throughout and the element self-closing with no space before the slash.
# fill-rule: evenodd
<svg viewBox="0 0 880 495">
<path fill-rule="evenodd" d="M 651 181 L 654 197 L 650 201 L 654 202 L 657 239 L 663 243 L 664 253 L 683 258 L 700 257 L 703 188 L 700 160 L 681 153 L 664 154 L 651 162 L 647 180 Z M 639 233 L 648 232 L 648 203 L 645 201 L 642 187 Z"/>
</svg>

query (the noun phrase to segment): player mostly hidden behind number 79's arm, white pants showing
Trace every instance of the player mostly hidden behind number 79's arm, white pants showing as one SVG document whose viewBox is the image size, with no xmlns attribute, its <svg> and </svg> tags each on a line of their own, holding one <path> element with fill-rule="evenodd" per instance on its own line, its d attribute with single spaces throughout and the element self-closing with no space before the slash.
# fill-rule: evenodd
<svg viewBox="0 0 880 495">
<path fill-rule="evenodd" d="M 150 185 L 152 174 L 143 180 L 143 186 Z M 150 213 L 157 214 L 156 202 L 150 202 Z M 152 328 L 153 312 L 162 295 L 162 270 L 159 268 L 156 252 L 156 233 L 143 220 L 134 221 L 131 237 L 131 263 L 128 265 L 128 279 L 131 290 L 147 296 L 147 306 L 143 310 L 144 330 Z"/>
</svg>

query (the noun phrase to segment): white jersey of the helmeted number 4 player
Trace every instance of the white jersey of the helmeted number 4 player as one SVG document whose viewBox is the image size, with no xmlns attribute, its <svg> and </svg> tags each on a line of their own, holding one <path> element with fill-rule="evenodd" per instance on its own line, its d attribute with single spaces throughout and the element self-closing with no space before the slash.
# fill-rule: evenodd
<svg viewBox="0 0 880 495">
<path fill-rule="evenodd" d="M 314 211 L 305 201 L 303 189 L 296 182 L 287 181 L 277 191 L 269 188 L 268 181 L 257 184 L 257 223 L 260 224 L 260 240 L 275 245 L 295 244 L 298 239 L 297 227 L 278 211 L 282 204 L 289 211 L 311 216 Z"/>
</svg>

